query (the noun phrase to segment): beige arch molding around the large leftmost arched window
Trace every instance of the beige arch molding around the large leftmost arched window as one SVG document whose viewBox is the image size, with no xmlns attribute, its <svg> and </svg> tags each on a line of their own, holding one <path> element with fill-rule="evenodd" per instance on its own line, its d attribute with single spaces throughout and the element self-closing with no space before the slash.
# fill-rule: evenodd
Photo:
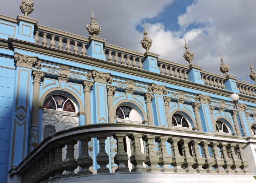
<svg viewBox="0 0 256 183">
<path fill-rule="evenodd" d="M 63 95 L 67 98 L 70 98 L 76 104 L 77 112 L 84 112 L 82 101 L 72 90 L 68 88 L 65 88 L 65 91 L 60 90 L 59 87 L 54 87 L 47 90 L 45 93 L 42 94 L 39 106 L 43 107 L 43 103 L 45 102 L 45 100 L 52 95 Z"/>
</svg>

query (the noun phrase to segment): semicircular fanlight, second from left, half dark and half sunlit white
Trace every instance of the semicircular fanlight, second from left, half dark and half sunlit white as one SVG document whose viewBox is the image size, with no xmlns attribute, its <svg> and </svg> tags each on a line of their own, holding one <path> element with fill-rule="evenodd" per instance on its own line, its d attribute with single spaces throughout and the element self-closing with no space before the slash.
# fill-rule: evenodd
<svg viewBox="0 0 256 183">
<path fill-rule="evenodd" d="M 116 109 L 117 122 L 141 122 L 140 114 L 129 106 L 120 106 Z"/>
</svg>

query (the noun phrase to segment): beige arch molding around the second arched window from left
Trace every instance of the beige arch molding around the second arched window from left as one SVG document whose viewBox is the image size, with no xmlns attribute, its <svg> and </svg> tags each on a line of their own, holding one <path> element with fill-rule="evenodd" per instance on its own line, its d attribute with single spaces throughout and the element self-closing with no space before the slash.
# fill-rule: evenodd
<svg viewBox="0 0 256 183">
<path fill-rule="evenodd" d="M 128 106 L 128 107 L 134 108 L 141 116 L 142 121 L 148 120 L 147 113 L 144 111 L 144 109 L 138 103 L 136 103 L 134 101 L 128 102 L 126 99 L 121 100 L 115 104 L 114 113 L 116 112 L 117 108 L 120 106 Z"/>
</svg>

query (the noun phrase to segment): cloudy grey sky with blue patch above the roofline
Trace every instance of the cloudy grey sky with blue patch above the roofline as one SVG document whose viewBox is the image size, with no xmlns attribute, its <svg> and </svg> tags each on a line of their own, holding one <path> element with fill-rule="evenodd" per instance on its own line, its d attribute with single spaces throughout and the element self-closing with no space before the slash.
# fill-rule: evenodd
<svg viewBox="0 0 256 183">
<path fill-rule="evenodd" d="M 0 3 L 0 14 L 22 15 L 21 0 Z M 39 25 L 89 37 L 86 25 L 92 9 L 107 43 L 141 53 L 143 25 L 153 40 L 150 52 L 160 58 L 188 65 L 183 58 L 184 38 L 195 53 L 193 63 L 216 74 L 220 52 L 229 74 L 248 83 L 249 60 L 256 69 L 255 0 L 33 0 L 29 16 Z"/>
</svg>

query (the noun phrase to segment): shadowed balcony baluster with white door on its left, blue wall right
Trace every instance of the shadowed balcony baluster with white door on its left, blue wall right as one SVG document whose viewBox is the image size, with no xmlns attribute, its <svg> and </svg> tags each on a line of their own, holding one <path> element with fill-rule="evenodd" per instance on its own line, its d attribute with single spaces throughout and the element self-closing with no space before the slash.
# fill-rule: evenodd
<svg viewBox="0 0 256 183">
<path fill-rule="evenodd" d="M 77 160 L 77 164 L 81 167 L 81 170 L 78 172 L 78 175 L 92 174 L 93 172 L 89 170 L 89 167 L 92 166 L 93 160 L 88 153 L 88 142 L 90 138 L 88 136 L 81 136 L 78 140 L 81 142 L 81 154 Z"/>
</svg>

